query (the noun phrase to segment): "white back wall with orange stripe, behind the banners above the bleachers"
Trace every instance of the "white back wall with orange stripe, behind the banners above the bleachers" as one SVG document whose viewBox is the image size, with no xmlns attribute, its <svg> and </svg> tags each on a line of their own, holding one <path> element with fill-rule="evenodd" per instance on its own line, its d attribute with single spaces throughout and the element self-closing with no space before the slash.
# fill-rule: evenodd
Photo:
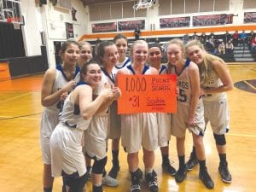
<svg viewBox="0 0 256 192">
<path fill-rule="evenodd" d="M 171 2 L 171 3 L 170 3 Z M 199 2 L 198 0 L 190 0 L 186 2 Z M 256 25 L 253 23 L 244 24 L 244 12 L 256 12 L 256 1 L 255 0 L 204 0 L 204 5 L 201 5 L 201 9 L 198 7 L 194 8 L 194 11 L 198 9 L 198 12 L 193 12 L 193 8 L 187 8 L 186 6 L 183 8 L 183 0 L 157 0 L 155 5 L 153 5 L 150 9 L 137 10 L 140 12 L 139 15 L 144 15 L 141 17 L 135 18 L 120 18 L 120 19 L 108 19 L 108 20 L 90 20 L 89 23 L 89 32 L 85 33 L 79 40 L 96 40 L 96 38 L 102 39 L 112 39 L 116 33 L 119 32 L 99 32 L 93 33 L 91 31 L 91 26 L 97 23 L 104 22 L 118 22 L 119 20 L 145 20 L 145 29 L 142 30 L 141 38 L 161 38 L 161 37 L 179 37 L 183 36 L 183 34 L 189 33 L 192 35 L 194 32 L 201 34 L 201 32 L 214 32 L 215 34 L 222 34 L 225 31 L 235 32 L 236 30 L 242 31 L 246 30 L 246 32 L 250 32 L 251 30 L 256 30 Z M 215 3 L 213 10 L 211 6 L 208 4 Z M 182 4 L 181 6 L 179 4 Z M 177 6 L 176 6 L 177 5 Z M 101 9 L 102 6 L 102 9 Z M 93 12 L 96 12 L 96 7 L 100 7 L 100 10 L 103 8 L 107 9 L 107 5 L 92 5 Z M 181 7 L 179 9 L 179 7 Z M 191 7 L 191 5 L 190 5 Z M 126 8 L 123 8 L 126 10 Z M 179 9 L 179 13 L 175 9 Z M 188 10 L 187 10 L 188 9 Z M 184 10 L 184 11 L 183 11 Z M 202 12 L 204 11 L 205 12 Z M 90 11 L 90 10 L 89 10 Z M 142 11 L 145 11 L 143 13 Z M 190 12 L 191 13 L 190 13 Z M 108 12 L 108 9 L 105 10 Z M 165 13 L 170 13 L 170 15 L 164 15 Z M 189 13 L 185 13 L 189 12 Z M 200 12 L 200 13 L 199 13 Z M 89 12 L 90 13 L 90 12 Z M 91 16 L 98 15 L 98 13 L 94 13 Z M 115 13 L 114 13 L 115 14 Z M 192 17 L 198 15 L 235 15 L 233 16 L 233 22 L 231 24 L 221 25 L 221 26 L 201 26 L 201 27 L 193 27 Z M 102 15 L 108 15 L 104 13 Z M 114 15 L 115 16 L 115 15 Z M 135 14 L 136 16 L 136 14 Z M 161 29 L 160 28 L 160 18 L 175 18 L 175 17 L 191 17 L 190 26 L 189 27 L 178 27 L 178 28 L 170 28 L 170 29 Z M 110 15 L 111 17 L 111 15 Z M 102 17 L 103 18 L 103 17 Z M 105 18 L 109 18 L 109 16 L 105 16 Z M 134 38 L 133 31 L 122 31 L 128 38 Z"/>
</svg>

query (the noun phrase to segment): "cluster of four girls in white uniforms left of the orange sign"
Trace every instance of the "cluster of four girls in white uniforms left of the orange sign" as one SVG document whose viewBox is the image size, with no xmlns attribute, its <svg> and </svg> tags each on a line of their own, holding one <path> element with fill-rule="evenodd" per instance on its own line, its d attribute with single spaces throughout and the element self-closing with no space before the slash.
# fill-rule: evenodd
<svg viewBox="0 0 256 192">
<path fill-rule="evenodd" d="M 44 191 L 52 191 L 54 177 L 63 177 L 63 191 L 79 192 L 88 179 L 84 154 L 94 159 L 93 191 L 102 191 L 107 162 L 109 106 L 121 92 L 112 69 L 119 64 L 117 46 L 102 42 L 91 59 L 88 43 L 68 40 L 61 47 L 61 65 L 49 68 L 42 84 L 40 143 L 44 162 Z M 84 131 L 86 130 L 86 131 Z"/>
</svg>

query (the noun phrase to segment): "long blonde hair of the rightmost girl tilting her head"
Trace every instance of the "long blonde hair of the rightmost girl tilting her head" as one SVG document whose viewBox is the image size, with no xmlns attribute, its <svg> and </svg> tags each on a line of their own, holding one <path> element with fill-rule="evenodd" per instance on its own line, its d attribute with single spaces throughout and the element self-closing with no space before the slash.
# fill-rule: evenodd
<svg viewBox="0 0 256 192">
<path fill-rule="evenodd" d="M 187 56 L 188 56 L 188 52 L 189 52 L 188 49 L 189 49 L 189 47 L 192 47 L 192 46 L 198 46 L 204 52 L 203 61 L 202 61 L 201 65 L 198 67 L 199 67 L 199 72 L 200 72 L 201 84 L 207 83 L 207 81 L 209 80 L 210 75 L 212 73 L 212 68 L 213 68 L 212 61 L 220 61 L 223 64 L 225 64 L 225 62 L 218 56 L 208 54 L 206 49 L 204 48 L 203 44 L 201 44 L 197 40 L 190 41 L 185 45 L 185 53 Z"/>
</svg>

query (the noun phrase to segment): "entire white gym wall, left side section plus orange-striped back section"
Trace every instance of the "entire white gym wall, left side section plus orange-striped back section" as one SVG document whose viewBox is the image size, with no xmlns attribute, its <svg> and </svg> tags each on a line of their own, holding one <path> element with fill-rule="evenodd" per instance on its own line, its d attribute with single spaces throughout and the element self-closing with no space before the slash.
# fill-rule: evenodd
<svg viewBox="0 0 256 192">
<path fill-rule="evenodd" d="M 64 1 L 64 0 L 62 0 Z M 52 5 L 50 1 L 47 4 L 40 7 L 36 2 L 32 0 L 20 1 L 21 13 L 24 15 L 25 26 L 22 27 L 24 45 L 26 49 L 26 56 L 40 55 L 41 45 L 46 45 L 46 52 L 48 56 L 49 67 L 55 67 L 55 46 L 54 42 L 63 42 L 67 40 L 67 26 L 69 23 L 73 26 L 73 38 L 76 40 L 88 40 L 94 41 L 96 38 L 112 39 L 119 32 L 100 32 L 92 33 L 92 24 L 95 23 L 106 23 L 112 21 L 122 20 L 145 20 L 145 29 L 142 31 L 142 38 L 154 38 L 154 37 L 176 37 L 182 36 L 185 33 L 190 35 L 193 32 L 214 32 L 224 33 L 226 30 L 233 32 L 235 30 L 250 30 L 256 31 L 255 24 L 244 24 L 243 13 L 245 11 L 256 12 L 256 6 L 254 6 L 255 0 L 230 0 L 229 10 L 226 11 L 214 11 L 214 12 L 202 12 L 202 13 L 190 13 L 182 15 L 160 15 L 158 3 L 166 0 L 157 0 L 156 5 L 152 9 L 144 9 L 140 12 L 128 16 L 131 14 L 129 11 L 123 10 L 125 14 L 124 18 L 104 19 L 107 18 L 102 12 L 101 20 L 90 20 L 90 9 L 89 6 L 84 8 L 81 0 L 72 0 L 71 5 L 76 11 L 76 20 L 73 20 L 72 11 L 67 9 L 59 9 Z M 180 0 L 175 0 L 179 2 Z M 191 0 L 195 1 L 195 0 Z M 213 0 L 210 0 L 213 1 Z M 216 2 L 222 2 L 222 0 L 215 0 Z M 226 0 L 224 0 L 226 1 Z M 243 9 L 244 1 L 251 1 L 252 6 L 247 6 Z M 124 0 L 125 2 L 125 0 Z M 127 1 L 126 1 L 127 2 Z M 96 5 L 102 6 L 104 5 Z M 253 7 L 254 6 L 254 7 Z M 168 9 L 167 9 L 168 10 Z M 116 15 L 119 12 L 119 7 L 116 9 Z M 133 10 L 131 10 L 133 11 Z M 183 17 L 193 15 L 218 15 L 218 14 L 234 14 L 233 24 L 224 26 L 202 26 L 202 27 L 183 27 L 183 28 L 172 28 L 172 29 L 160 29 L 160 18 L 164 17 Z M 133 31 L 124 31 L 128 38 L 133 39 Z"/>
</svg>

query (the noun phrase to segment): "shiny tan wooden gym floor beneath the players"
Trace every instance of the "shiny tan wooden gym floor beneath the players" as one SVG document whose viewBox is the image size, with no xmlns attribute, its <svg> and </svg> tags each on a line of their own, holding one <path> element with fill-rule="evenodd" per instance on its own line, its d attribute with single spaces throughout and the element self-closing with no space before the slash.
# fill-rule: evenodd
<svg viewBox="0 0 256 192">
<path fill-rule="evenodd" d="M 256 79 L 256 65 L 229 65 L 234 83 Z M 40 104 L 40 86 L 43 75 L 0 82 L 0 191 L 42 192 L 41 151 L 39 148 L 39 125 L 43 108 Z M 254 82 L 255 83 L 255 82 Z M 255 84 L 247 84 L 256 90 Z M 256 94 L 235 88 L 229 92 L 230 133 L 227 134 L 227 150 L 232 183 L 223 183 L 218 175 L 218 153 L 212 130 L 207 127 L 204 139 L 207 166 L 215 188 L 206 189 L 198 178 L 198 166 L 188 173 L 183 183 L 177 184 L 173 177 L 161 169 L 160 150 L 155 151 L 155 171 L 161 192 L 251 192 L 256 189 Z M 186 160 L 192 148 L 191 137 L 186 140 Z M 111 166 L 108 150 L 107 170 Z M 142 153 L 140 153 L 141 155 Z M 172 137 L 170 154 L 173 166 L 178 166 L 175 138 Z M 140 167 L 143 169 L 142 155 Z M 126 154 L 120 150 L 121 171 L 119 186 L 104 187 L 105 192 L 128 192 L 130 174 L 127 171 Z M 143 191 L 148 188 L 143 183 Z M 91 191 L 90 181 L 86 191 Z M 61 191 L 61 178 L 56 178 L 54 192 Z"/>
</svg>

